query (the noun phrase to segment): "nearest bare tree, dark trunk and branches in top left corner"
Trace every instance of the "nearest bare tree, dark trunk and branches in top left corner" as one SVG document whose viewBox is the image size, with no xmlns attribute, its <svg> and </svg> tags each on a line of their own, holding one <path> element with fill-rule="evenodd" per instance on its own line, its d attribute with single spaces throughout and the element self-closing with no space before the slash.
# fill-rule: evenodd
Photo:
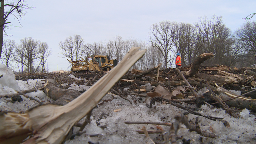
<svg viewBox="0 0 256 144">
<path fill-rule="evenodd" d="M 24 0 L 11 0 L 6 1 L 0 0 L 1 7 L 0 7 L 0 58 L 3 48 L 3 37 L 5 32 L 5 29 L 8 29 L 11 25 L 11 22 L 8 21 L 8 18 L 10 16 L 14 16 L 18 21 L 20 18 L 22 18 L 23 15 L 25 15 L 26 11 L 25 9 L 31 9 L 31 7 L 28 7 L 24 2 Z"/>
</svg>

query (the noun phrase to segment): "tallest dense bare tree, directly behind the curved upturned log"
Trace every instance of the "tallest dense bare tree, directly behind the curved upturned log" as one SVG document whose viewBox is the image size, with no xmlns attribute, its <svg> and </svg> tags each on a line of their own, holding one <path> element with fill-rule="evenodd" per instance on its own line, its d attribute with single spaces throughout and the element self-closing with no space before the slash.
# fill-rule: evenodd
<svg viewBox="0 0 256 144">
<path fill-rule="evenodd" d="M 213 15 L 211 19 L 201 17 L 195 26 L 197 28 L 197 36 L 200 36 L 196 37 L 200 38 L 198 40 L 200 43 L 197 43 L 200 49 L 196 48 L 196 50 L 199 53 L 213 52 L 215 55 L 213 60 L 208 60 L 204 63 L 208 65 L 226 64 L 235 40 L 231 30 L 223 23 L 222 16 Z"/>
</svg>

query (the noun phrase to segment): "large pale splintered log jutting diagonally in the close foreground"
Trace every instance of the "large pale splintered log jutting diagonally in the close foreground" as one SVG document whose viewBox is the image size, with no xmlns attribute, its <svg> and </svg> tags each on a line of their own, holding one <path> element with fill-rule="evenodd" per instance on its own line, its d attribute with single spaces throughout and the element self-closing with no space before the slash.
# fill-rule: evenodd
<svg viewBox="0 0 256 144">
<path fill-rule="evenodd" d="M 122 61 L 90 89 L 64 106 L 42 105 L 26 113 L 0 114 L 0 143 L 60 144 L 73 125 L 83 118 L 115 83 L 144 55 L 146 50 L 133 47 Z"/>
</svg>

